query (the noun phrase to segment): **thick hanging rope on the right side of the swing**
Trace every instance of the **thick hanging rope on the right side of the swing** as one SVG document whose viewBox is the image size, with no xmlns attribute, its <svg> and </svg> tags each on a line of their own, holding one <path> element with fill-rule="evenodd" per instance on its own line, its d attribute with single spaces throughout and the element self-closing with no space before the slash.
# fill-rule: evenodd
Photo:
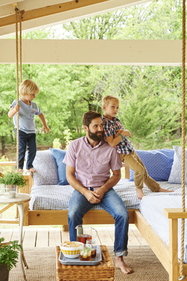
<svg viewBox="0 0 187 281">
<path fill-rule="evenodd" d="M 182 46 L 182 211 L 185 211 L 185 60 L 186 60 L 186 0 L 183 0 L 183 46 Z M 181 218 L 181 261 L 180 261 L 180 277 L 183 275 L 183 240 L 184 240 L 185 219 Z"/>
</svg>

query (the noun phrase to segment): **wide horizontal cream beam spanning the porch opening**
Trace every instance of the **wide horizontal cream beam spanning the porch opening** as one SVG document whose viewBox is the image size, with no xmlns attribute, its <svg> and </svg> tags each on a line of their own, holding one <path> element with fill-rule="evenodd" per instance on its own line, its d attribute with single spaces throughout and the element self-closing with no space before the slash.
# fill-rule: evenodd
<svg viewBox="0 0 187 281">
<path fill-rule="evenodd" d="M 15 40 L 0 39 L 0 46 L 0 63 L 15 63 Z M 25 39 L 22 40 L 22 63 L 181 66 L 181 49 L 181 40 Z"/>
</svg>

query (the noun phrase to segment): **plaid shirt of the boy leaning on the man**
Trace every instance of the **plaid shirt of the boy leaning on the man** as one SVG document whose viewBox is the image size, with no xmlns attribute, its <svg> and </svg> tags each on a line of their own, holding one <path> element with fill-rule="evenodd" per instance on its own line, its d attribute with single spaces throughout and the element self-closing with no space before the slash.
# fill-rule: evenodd
<svg viewBox="0 0 187 281">
<path fill-rule="evenodd" d="M 105 136 L 105 141 L 106 137 L 108 136 L 113 136 L 115 138 L 115 134 L 117 133 L 116 130 L 123 129 L 124 127 L 122 123 L 120 122 L 120 119 L 117 117 L 113 117 L 113 120 L 109 120 L 105 118 L 104 116 L 102 117 L 103 119 L 103 129 L 104 129 L 104 136 Z M 115 148 L 117 149 L 118 153 L 129 155 L 131 152 L 134 151 L 134 146 L 131 144 L 131 142 L 128 140 L 128 138 L 125 136 L 120 143 L 115 145 Z"/>
</svg>

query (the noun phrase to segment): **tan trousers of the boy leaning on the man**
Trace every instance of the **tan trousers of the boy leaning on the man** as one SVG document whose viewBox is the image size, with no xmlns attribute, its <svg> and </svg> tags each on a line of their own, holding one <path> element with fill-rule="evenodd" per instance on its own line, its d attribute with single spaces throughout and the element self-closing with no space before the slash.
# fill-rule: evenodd
<svg viewBox="0 0 187 281">
<path fill-rule="evenodd" d="M 148 175 L 146 167 L 135 150 L 130 155 L 120 154 L 120 159 L 134 171 L 134 183 L 136 188 L 142 189 L 143 183 L 145 183 L 152 192 L 157 192 L 160 189 L 160 185 Z"/>
</svg>

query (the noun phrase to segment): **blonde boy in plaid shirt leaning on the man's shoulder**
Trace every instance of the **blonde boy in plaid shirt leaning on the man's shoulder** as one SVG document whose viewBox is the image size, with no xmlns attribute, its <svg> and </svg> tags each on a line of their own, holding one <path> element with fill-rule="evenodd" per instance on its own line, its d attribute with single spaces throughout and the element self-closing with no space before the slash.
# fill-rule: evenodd
<svg viewBox="0 0 187 281">
<path fill-rule="evenodd" d="M 127 136 L 131 138 L 131 133 L 129 130 L 124 130 L 120 119 L 116 117 L 119 105 L 120 100 L 115 96 L 105 96 L 102 100 L 105 141 L 117 149 L 122 162 L 134 171 L 134 183 L 138 199 L 142 199 L 144 196 L 143 183 L 153 192 L 171 192 L 160 188 L 160 185 L 148 175 L 146 167 L 127 138 Z"/>
</svg>

